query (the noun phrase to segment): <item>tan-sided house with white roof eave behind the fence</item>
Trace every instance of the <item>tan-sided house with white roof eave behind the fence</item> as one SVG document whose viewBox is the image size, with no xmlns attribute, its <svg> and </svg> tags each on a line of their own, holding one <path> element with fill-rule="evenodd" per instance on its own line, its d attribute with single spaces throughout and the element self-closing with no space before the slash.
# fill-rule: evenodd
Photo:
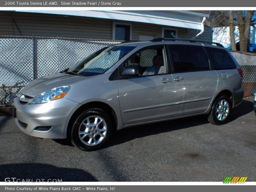
<svg viewBox="0 0 256 192">
<path fill-rule="evenodd" d="M 204 11 L 1 11 L 0 36 L 212 41 L 212 29 L 202 24 L 205 17 Z"/>
</svg>

